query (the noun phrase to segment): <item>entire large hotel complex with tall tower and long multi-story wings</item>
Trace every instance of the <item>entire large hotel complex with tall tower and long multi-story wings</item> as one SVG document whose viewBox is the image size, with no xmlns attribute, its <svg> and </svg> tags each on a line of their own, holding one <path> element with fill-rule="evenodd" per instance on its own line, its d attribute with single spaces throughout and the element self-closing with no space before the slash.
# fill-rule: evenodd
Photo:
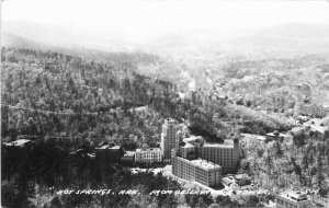
<svg viewBox="0 0 329 208">
<path fill-rule="evenodd" d="M 162 126 L 161 151 L 163 160 L 171 159 L 172 174 L 206 186 L 220 184 L 222 170 L 232 170 L 238 165 L 239 139 L 205 143 L 200 136 L 185 138 L 184 131 L 173 120 L 166 120 Z"/>
</svg>

